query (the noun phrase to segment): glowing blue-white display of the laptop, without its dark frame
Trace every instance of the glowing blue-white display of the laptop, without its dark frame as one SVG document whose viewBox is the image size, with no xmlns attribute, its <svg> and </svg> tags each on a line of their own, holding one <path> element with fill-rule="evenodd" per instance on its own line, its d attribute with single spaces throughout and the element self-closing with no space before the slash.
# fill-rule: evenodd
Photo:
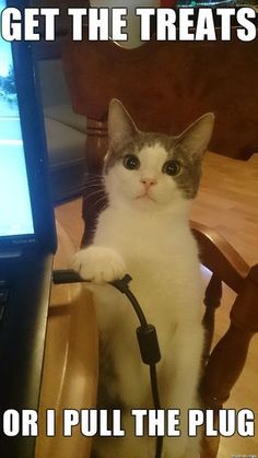
<svg viewBox="0 0 258 458">
<path fill-rule="evenodd" d="M 5 2 L 0 0 L 0 13 Z M 0 36 L 0 236 L 34 234 L 11 44 Z"/>
</svg>

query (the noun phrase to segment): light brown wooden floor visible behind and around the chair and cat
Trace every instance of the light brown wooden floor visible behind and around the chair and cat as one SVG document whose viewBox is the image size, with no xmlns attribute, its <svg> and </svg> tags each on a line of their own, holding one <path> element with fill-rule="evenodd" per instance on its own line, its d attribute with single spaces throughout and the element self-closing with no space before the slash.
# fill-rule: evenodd
<svg viewBox="0 0 258 458">
<path fill-rule="evenodd" d="M 83 227 L 80 199 L 60 205 L 56 214 L 79 247 Z M 208 153 L 191 219 L 224 235 L 247 263 L 257 263 L 258 154 L 254 154 L 248 162 L 238 162 Z M 228 310 L 233 301 L 234 294 L 224 287 L 223 303 L 216 316 L 215 341 L 227 329 Z M 225 407 L 236 410 L 247 408 L 258 414 L 258 336 L 253 339 L 245 371 Z M 219 458 L 258 457 L 258 428 L 256 430 L 253 438 L 243 438 L 237 434 L 222 438 Z"/>
</svg>

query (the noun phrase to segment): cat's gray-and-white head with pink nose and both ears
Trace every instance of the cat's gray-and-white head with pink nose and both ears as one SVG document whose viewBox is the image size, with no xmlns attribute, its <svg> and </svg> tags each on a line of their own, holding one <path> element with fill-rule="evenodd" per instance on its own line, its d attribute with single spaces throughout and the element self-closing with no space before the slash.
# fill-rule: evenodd
<svg viewBox="0 0 258 458">
<path fill-rule="evenodd" d="M 113 99 L 104 162 L 109 201 L 154 210 L 173 205 L 178 199 L 192 199 L 213 124 L 214 115 L 209 113 L 178 137 L 141 132 L 122 104 Z"/>
</svg>

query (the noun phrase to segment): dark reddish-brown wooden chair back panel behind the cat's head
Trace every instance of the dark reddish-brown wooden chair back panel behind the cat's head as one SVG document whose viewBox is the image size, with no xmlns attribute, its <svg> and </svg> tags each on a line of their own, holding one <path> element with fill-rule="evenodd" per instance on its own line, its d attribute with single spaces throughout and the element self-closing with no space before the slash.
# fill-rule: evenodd
<svg viewBox="0 0 258 458">
<path fill-rule="evenodd" d="M 86 36 L 85 25 L 83 42 L 68 40 L 63 48 L 77 113 L 104 122 L 116 97 L 139 129 L 177 134 L 213 111 L 212 151 L 242 160 L 258 151 L 257 40 L 242 43 L 233 31 L 232 42 L 157 42 L 153 36 L 126 49 Z"/>
</svg>

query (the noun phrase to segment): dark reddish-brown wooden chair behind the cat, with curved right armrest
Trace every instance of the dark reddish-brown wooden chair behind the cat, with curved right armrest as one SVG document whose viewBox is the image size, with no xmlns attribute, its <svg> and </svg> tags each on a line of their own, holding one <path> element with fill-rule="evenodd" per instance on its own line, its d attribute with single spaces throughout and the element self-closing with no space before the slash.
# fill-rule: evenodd
<svg viewBox="0 0 258 458">
<path fill-rule="evenodd" d="M 63 63 L 73 108 L 87 117 L 85 162 L 90 174 L 102 169 L 107 149 L 107 109 L 113 97 L 121 99 L 142 130 L 177 133 L 201 114 L 213 110 L 216 129 L 212 150 L 247 158 L 257 149 L 257 43 L 197 45 L 153 39 L 140 48 L 124 49 L 113 42 L 68 40 Z M 253 70 L 248 72 L 250 64 Z M 248 96 L 247 79 L 253 87 Z M 83 244 L 92 239 L 98 211 L 96 199 L 87 197 L 85 190 Z M 212 272 L 204 297 L 207 345 L 200 391 L 204 407 L 216 411 L 228 398 L 244 367 L 250 339 L 258 331 L 258 265 L 249 268 L 211 228 L 195 222 L 191 227 L 201 262 Z M 230 329 L 210 354 L 222 282 L 237 297 Z M 218 447 L 219 438 L 204 437 L 202 458 L 214 458 Z"/>
</svg>

